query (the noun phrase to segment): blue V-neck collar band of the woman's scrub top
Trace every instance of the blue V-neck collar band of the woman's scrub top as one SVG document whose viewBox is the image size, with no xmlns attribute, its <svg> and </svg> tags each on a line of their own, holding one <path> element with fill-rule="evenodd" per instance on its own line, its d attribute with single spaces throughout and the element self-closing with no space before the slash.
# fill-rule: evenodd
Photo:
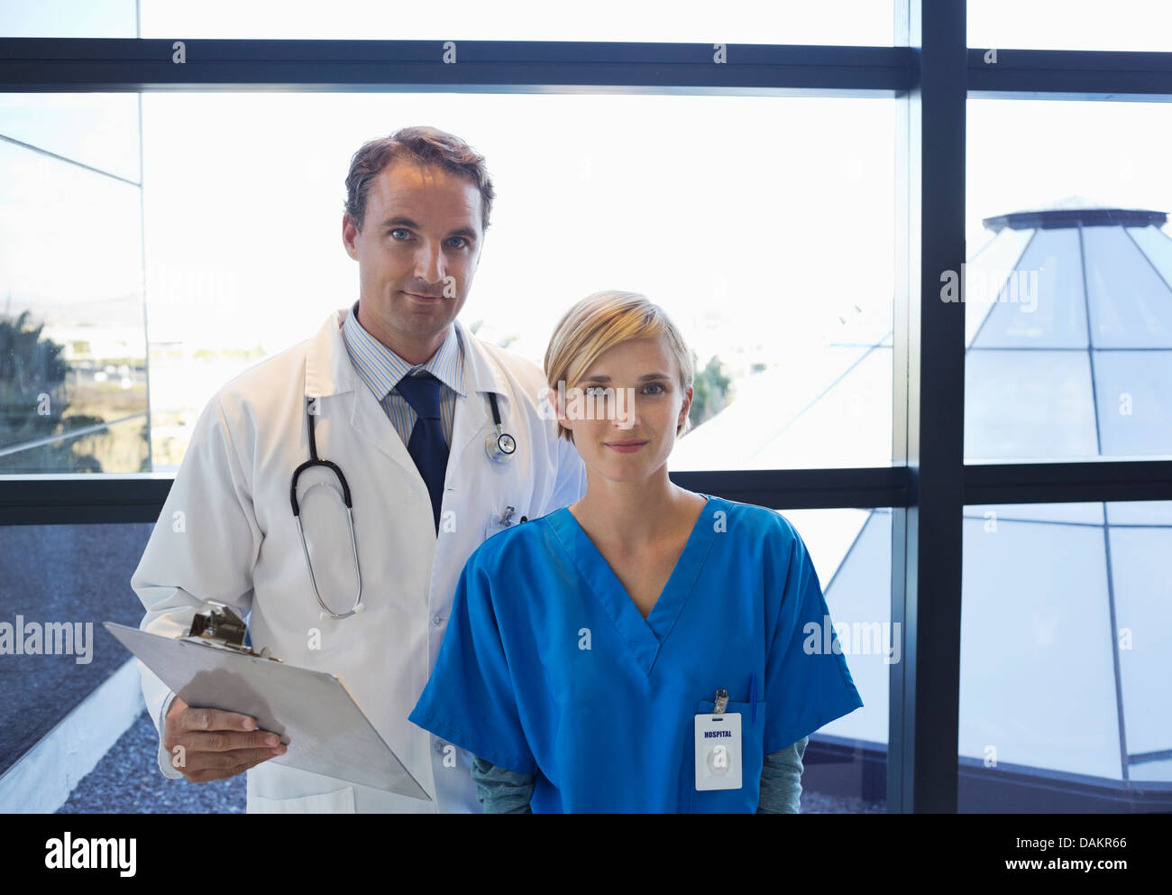
<svg viewBox="0 0 1172 895">
<path fill-rule="evenodd" d="M 701 496 L 707 497 L 708 502 L 700 510 L 700 516 L 684 542 L 683 552 L 680 554 L 667 584 L 663 585 L 647 618 L 643 618 L 635 601 L 619 581 L 619 576 L 614 574 L 568 507 L 563 507 L 544 517 L 647 674 L 652 673 L 660 646 L 672 633 L 680 611 L 691 596 L 696 577 L 716 533 L 713 515 L 721 509 L 727 511 L 722 506 L 724 501 L 720 497 L 707 494 Z"/>
</svg>

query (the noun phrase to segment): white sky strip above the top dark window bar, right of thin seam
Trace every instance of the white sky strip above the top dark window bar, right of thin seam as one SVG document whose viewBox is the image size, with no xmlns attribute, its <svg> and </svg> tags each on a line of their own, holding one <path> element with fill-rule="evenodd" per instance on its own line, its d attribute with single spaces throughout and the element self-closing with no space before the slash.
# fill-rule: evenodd
<svg viewBox="0 0 1172 895">
<path fill-rule="evenodd" d="M 142 0 L 144 38 L 582 40 L 891 46 L 891 0 Z M 968 0 L 970 47 L 1172 50 L 1167 0 Z M 328 12 L 326 12 L 328 11 Z"/>
</svg>

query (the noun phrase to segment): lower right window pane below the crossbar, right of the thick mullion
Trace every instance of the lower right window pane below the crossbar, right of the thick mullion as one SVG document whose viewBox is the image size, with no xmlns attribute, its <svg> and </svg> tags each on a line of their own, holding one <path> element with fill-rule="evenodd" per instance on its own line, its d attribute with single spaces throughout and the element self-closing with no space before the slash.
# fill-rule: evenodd
<svg viewBox="0 0 1172 895">
<path fill-rule="evenodd" d="M 1172 526 L 987 509 L 965 508 L 960 809 L 1130 811 L 1142 781 L 1172 780 L 1172 720 L 1151 711 L 1172 676 Z"/>
</svg>

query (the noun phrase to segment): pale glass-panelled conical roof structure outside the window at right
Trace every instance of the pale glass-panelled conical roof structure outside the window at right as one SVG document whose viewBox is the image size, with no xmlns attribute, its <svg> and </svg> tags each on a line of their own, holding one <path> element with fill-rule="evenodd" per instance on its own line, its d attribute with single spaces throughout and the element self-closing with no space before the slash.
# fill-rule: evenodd
<svg viewBox="0 0 1172 895">
<path fill-rule="evenodd" d="M 1166 213 L 1072 197 L 983 223 L 993 236 L 959 278 L 966 460 L 1172 454 Z M 672 468 L 890 463 L 892 333 L 853 335 L 740 382 Z M 871 623 L 890 618 L 891 510 L 784 515 L 865 704 L 823 730 L 886 743 L 899 657 Z M 1172 680 L 1172 502 L 968 507 L 963 524 L 962 760 L 1172 779 L 1172 720 L 1151 711 Z"/>
</svg>

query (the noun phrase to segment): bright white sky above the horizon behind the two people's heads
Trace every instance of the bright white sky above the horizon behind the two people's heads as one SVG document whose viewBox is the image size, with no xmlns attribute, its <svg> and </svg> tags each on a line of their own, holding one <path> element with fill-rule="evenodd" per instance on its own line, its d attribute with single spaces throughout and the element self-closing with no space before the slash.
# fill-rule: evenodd
<svg viewBox="0 0 1172 895">
<path fill-rule="evenodd" d="M 853 304 L 890 306 L 890 102 L 151 94 L 143 109 L 148 289 L 179 287 L 151 291 L 156 340 L 202 327 L 207 346 L 274 350 L 352 303 L 349 157 L 415 123 L 486 156 L 497 201 L 463 318 L 490 317 L 534 359 L 560 313 L 599 289 L 646 292 L 690 331 L 725 320 L 737 341 L 774 348 L 832 332 Z M 195 320 L 193 303 L 207 312 Z"/>
</svg>

